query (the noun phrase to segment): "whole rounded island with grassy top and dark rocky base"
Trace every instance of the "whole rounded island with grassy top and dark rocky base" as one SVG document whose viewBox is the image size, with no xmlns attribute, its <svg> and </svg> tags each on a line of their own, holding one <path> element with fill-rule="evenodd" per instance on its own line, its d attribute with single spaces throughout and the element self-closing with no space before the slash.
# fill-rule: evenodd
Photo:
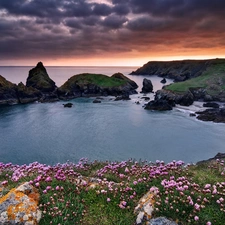
<svg viewBox="0 0 225 225">
<path fill-rule="evenodd" d="M 58 89 L 60 99 L 93 96 L 120 96 L 136 94 L 126 79 L 108 77 L 102 74 L 79 74 L 71 77 Z"/>
</svg>

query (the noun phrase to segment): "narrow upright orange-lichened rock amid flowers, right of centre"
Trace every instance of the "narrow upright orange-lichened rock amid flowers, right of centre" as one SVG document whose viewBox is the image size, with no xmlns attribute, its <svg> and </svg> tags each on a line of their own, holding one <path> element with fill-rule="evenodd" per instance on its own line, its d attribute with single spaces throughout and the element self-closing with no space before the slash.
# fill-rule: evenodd
<svg viewBox="0 0 225 225">
<path fill-rule="evenodd" d="M 154 211 L 155 196 L 158 193 L 157 187 L 152 187 L 138 202 L 134 213 L 137 214 L 136 224 L 140 225 L 150 221 L 152 212 Z"/>
</svg>

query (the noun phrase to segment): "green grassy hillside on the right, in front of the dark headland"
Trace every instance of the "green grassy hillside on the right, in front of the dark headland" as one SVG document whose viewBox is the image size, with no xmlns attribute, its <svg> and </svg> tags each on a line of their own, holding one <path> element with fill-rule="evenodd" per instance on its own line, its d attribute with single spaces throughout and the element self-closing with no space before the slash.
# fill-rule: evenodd
<svg viewBox="0 0 225 225">
<path fill-rule="evenodd" d="M 210 65 L 201 76 L 192 78 L 190 80 L 173 83 L 166 87 L 178 93 L 184 93 L 189 88 L 205 88 L 208 94 L 218 95 L 225 92 L 225 63 L 218 61 Z"/>
</svg>

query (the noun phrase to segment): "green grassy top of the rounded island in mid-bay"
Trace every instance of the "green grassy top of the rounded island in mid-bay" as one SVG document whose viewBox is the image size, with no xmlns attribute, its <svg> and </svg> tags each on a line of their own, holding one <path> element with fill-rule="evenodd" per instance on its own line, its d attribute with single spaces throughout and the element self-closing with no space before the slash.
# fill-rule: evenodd
<svg viewBox="0 0 225 225">
<path fill-rule="evenodd" d="M 78 84 L 80 86 L 94 84 L 99 87 L 118 87 L 126 84 L 126 81 L 114 77 L 108 77 L 103 74 L 83 73 L 72 76 L 65 84 L 63 84 L 62 87 L 70 86 L 72 84 Z"/>
</svg>

